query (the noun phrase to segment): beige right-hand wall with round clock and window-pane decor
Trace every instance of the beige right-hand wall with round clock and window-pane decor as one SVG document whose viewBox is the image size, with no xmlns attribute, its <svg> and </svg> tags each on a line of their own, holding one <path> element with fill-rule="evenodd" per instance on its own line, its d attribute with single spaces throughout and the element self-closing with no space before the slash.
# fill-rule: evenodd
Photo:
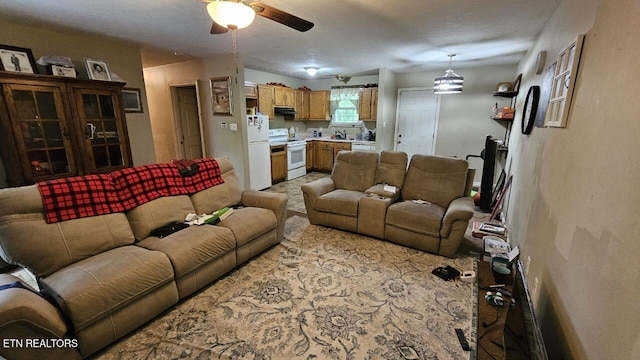
<svg viewBox="0 0 640 360">
<path fill-rule="evenodd" d="M 548 66 L 586 33 L 567 127 L 514 132 L 509 152 L 510 238 L 550 359 L 640 358 L 639 21 L 637 0 L 565 0 L 520 64 L 541 85 L 538 51 Z"/>
</svg>

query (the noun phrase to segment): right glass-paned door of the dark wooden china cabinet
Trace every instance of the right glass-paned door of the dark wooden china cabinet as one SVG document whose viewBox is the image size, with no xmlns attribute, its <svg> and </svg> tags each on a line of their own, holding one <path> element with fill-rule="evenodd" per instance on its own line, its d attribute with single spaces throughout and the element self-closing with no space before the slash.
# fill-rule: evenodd
<svg viewBox="0 0 640 360">
<path fill-rule="evenodd" d="M 81 89 L 77 90 L 76 99 L 79 99 L 90 172 L 109 172 L 127 166 L 118 93 Z"/>
</svg>

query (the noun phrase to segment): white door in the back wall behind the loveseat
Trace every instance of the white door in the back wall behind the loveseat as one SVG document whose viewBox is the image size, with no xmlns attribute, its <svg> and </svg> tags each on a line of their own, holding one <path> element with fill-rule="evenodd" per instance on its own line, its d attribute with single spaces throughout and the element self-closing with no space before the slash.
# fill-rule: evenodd
<svg viewBox="0 0 640 360">
<path fill-rule="evenodd" d="M 435 151 L 439 98 L 433 89 L 400 89 L 395 150 L 432 155 Z"/>
</svg>

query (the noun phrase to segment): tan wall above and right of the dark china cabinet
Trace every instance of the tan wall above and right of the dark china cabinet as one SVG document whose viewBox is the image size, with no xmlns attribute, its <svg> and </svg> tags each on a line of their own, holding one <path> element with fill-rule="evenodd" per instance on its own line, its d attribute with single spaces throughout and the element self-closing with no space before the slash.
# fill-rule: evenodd
<svg viewBox="0 0 640 360">
<path fill-rule="evenodd" d="M 0 19 L 0 29 L 0 44 L 31 49 L 36 60 L 45 55 L 70 57 L 78 78 L 87 78 L 84 58 L 99 59 L 106 61 L 112 75 L 126 81 L 127 87 L 140 88 L 144 112 L 126 114 L 133 164 L 156 162 L 139 47 L 96 35 L 34 27 L 6 19 Z M 46 73 L 44 67 L 39 68 L 41 73 Z"/>
</svg>

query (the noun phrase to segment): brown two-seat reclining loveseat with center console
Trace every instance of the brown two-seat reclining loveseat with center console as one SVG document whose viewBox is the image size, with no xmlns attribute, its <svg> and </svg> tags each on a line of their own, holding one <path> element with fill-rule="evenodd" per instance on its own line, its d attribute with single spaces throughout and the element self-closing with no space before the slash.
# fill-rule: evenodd
<svg viewBox="0 0 640 360">
<path fill-rule="evenodd" d="M 331 177 L 302 185 L 309 221 L 452 257 L 473 216 L 475 170 L 429 155 L 406 165 L 402 152 L 341 151 Z"/>
</svg>

